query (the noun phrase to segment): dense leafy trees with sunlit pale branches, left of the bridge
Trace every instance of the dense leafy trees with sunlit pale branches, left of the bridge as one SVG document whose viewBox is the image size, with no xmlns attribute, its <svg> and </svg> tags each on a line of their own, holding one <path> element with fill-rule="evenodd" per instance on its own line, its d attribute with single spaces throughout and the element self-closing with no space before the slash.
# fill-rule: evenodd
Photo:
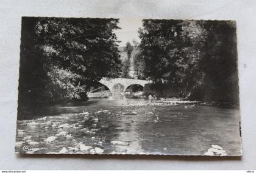
<svg viewBox="0 0 256 173">
<path fill-rule="evenodd" d="M 19 106 L 85 100 L 121 69 L 118 19 L 23 18 Z"/>
</svg>

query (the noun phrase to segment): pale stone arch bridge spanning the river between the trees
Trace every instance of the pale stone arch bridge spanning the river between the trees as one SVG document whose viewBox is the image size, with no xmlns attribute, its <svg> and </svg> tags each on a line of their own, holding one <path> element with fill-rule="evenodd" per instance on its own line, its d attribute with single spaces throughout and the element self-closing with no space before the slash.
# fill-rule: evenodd
<svg viewBox="0 0 256 173">
<path fill-rule="evenodd" d="M 127 87 L 132 84 L 139 84 L 141 86 L 145 86 L 145 84 L 152 83 L 152 81 L 148 80 L 135 80 L 135 79 L 127 79 L 127 78 L 102 78 L 99 83 L 104 84 L 104 86 L 108 87 L 110 92 L 115 93 L 116 87 L 119 87 L 118 92 L 125 92 Z"/>
</svg>

